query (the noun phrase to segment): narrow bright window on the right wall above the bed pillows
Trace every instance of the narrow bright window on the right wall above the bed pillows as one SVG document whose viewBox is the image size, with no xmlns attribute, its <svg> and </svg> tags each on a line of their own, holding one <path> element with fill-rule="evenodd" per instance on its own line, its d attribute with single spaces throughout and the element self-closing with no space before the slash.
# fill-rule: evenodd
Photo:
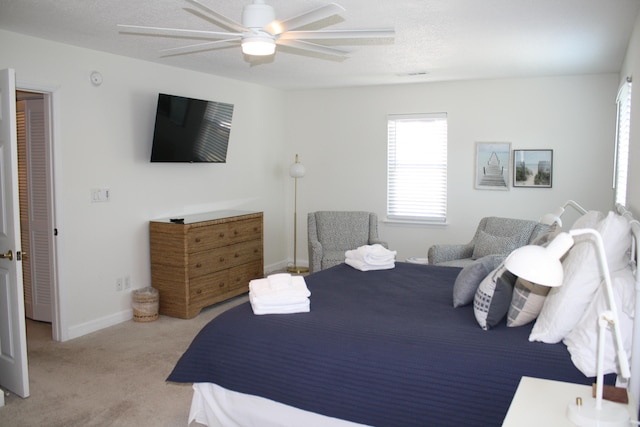
<svg viewBox="0 0 640 427">
<path fill-rule="evenodd" d="M 616 147 L 613 165 L 614 203 L 627 203 L 627 172 L 629 169 L 629 129 L 631 126 L 631 78 L 622 84 L 618 97 L 616 118 Z"/>
</svg>

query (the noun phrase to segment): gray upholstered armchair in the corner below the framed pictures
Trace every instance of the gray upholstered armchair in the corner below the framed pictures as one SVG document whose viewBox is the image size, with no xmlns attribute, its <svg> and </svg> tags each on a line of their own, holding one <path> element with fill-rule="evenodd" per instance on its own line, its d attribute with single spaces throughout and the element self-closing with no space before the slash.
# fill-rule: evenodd
<svg viewBox="0 0 640 427">
<path fill-rule="evenodd" d="M 440 244 L 429 248 L 429 264 L 464 267 L 486 255 L 508 255 L 532 243 L 548 225 L 526 219 L 486 217 L 466 244 Z"/>
</svg>

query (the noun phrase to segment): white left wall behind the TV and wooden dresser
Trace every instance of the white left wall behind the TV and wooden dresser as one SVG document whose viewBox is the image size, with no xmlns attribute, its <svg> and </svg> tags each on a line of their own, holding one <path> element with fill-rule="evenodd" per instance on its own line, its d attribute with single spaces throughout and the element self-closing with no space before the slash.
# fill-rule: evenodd
<svg viewBox="0 0 640 427">
<path fill-rule="evenodd" d="M 215 209 L 265 214 L 265 264 L 286 259 L 281 92 L 0 31 L 0 68 L 55 88 L 57 237 L 63 339 L 126 320 L 116 278 L 150 286 L 148 221 Z M 93 86 L 92 70 L 104 83 Z M 235 105 L 226 164 L 151 164 L 158 92 Z M 285 156 L 285 154 L 287 154 Z M 90 203 L 90 189 L 111 201 Z"/>
</svg>

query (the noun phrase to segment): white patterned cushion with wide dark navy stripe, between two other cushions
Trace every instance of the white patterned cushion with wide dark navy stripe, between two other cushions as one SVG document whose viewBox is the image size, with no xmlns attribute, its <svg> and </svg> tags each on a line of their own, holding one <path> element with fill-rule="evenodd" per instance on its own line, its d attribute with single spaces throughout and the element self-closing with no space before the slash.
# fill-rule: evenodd
<svg viewBox="0 0 640 427">
<path fill-rule="evenodd" d="M 480 327 L 496 326 L 509 311 L 516 276 L 500 264 L 478 286 L 473 299 L 473 313 Z"/>
</svg>

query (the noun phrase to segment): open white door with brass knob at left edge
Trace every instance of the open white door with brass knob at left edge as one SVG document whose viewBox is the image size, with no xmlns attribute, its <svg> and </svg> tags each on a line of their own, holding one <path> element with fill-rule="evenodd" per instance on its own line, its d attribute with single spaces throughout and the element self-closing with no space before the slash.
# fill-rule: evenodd
<svg viewBox="0 0 640 427">
<path fill-rule="evenodd" d="M 15 86 L 14 70 L 0 71 L 0 386 L 28 397 Z"/>
</svg>

